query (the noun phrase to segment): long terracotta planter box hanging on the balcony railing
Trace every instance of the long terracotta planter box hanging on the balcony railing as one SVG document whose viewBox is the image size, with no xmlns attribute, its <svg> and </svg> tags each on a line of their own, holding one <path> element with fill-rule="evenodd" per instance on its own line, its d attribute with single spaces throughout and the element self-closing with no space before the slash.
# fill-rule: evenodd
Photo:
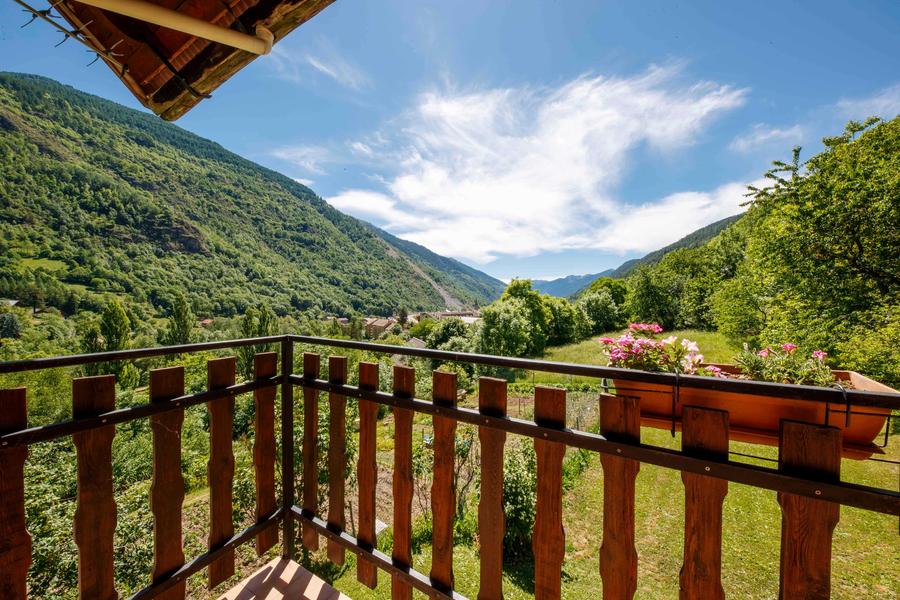
<svg viewBox="0 0 900 600">
<path fill-rule="evenodd" d="M 740 373 L 732 365 L 716 365 L 727 373 Z M 834 371 L 838 382 L 852 383 L 857 390 L 871 392 L 894 392 L 895 390 L 873 381 L 854 371 Z M 648 427 L 669 429 L 672 427 L 671 385 L 661 385 L 626 380 L 612 380 L 617 393 L 635 396 L 641 401 L 641 424 Z M 756 396 L 681 388 L 675 407 L 676 429 L 681 427 L 681 408 L 685 405 L 702 406 L 728 411 L 731 439 L 756 444 L 778 445 L 778 434 L 782 419 L 825 423 L 825 402 L 792 400 L 772 396 Z M 878 437 L 890 410 L 872 406 L 851 405 L 850 426 L 846 426 L 845 406 L 832 402 L 829 407 L 828 424 L 843 430 L 844 455 L 850 458 L 867 458 L 880 449 L 873 444 Z"/>
</svg>

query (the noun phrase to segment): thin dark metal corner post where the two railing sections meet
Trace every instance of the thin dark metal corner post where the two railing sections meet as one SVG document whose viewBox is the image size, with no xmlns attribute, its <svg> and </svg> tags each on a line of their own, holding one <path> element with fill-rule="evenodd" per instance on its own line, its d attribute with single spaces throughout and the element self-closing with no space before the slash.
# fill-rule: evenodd
<svg viewBox="0 0 900 600">
<path fill-rule="evenodd" d="M 294 558 L 294 342 L 288 336 L 281 340 L 281 556 Z"/>
</svg>

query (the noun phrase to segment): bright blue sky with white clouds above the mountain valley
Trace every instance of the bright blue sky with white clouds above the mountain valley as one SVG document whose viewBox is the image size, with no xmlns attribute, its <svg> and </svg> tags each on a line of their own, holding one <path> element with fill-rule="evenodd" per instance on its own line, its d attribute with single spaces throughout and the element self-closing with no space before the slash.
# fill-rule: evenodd
<svg viewBox="0 0 900 600">
<path fill-rule="evenodd" d="M 900 2 L 338 0 L 178 121 L 496 277 L 598 272 L 900 113 Z M 0 5 L 0 69 L 138 108 Z"/>
</svg>

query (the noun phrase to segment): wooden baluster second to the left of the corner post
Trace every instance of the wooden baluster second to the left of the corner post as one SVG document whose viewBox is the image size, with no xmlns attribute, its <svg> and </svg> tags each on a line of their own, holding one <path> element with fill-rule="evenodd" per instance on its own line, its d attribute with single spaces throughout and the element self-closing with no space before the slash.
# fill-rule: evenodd
<svg viewBox="0 0 900 600">
<path fill-rule="evenodd" d="M 210 390 L 234 385 L 235 358 L 217 358 L 207 363 Z M 231 444 L 234 424 L 234 398 L 226 397 L 206 403 L 209 410 L 209 538 L 207 547 L 218 548 L 234 535 L 232 493 L 234 452 Z M 234 550 L 229 550 L 209 565 L 209 588 L 212 589 L 234 575 Z"/>
</svg>

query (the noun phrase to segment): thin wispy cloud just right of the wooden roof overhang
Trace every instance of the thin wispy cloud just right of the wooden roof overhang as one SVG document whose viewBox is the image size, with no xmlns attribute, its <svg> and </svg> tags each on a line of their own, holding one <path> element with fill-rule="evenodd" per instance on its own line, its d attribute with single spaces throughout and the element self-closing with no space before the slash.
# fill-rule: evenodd
<svg viewBox="0 0 900 600">
<path fill-rule="evenodd" d="M 276 45 L 267 64 L 276 76 L 292 83 L 308 83 L 319 74 L 355 91 L 372 85 L 372 80 L 362 69 L 327 42 L 317 44 L 315 53 L 286 47 L 284 43 Z"/>
</svg>

